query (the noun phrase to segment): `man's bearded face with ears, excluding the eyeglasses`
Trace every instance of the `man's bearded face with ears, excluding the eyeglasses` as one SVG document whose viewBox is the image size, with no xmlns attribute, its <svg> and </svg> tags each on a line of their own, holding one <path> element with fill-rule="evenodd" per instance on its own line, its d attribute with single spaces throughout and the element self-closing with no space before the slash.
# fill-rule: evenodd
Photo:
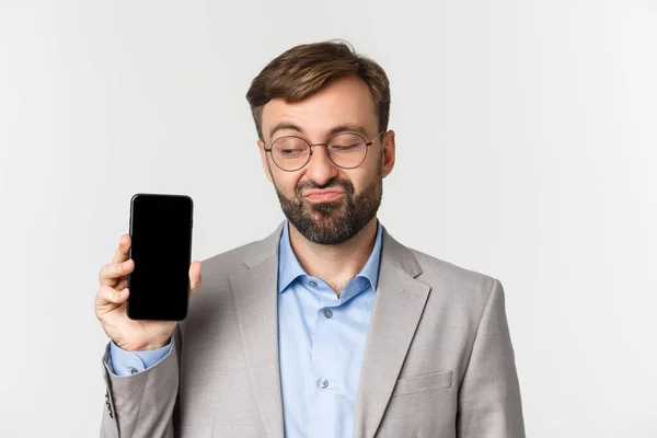
<svg viewBox="0 0 657 438">
<path fill-rule="evenodd" d="M 263 106 L 262 130 L 267 147 L 284 136 L 301 137 L 311 145 L 326 143 L 336 128 L 360 134 L 368 142 L 379 134 L 371 92 L 359 78 L 335 80 L 301 102 L 290 104 L 275 99 Z M 311 242 L 342 243 L 377 216 L 382 178 L 394 165 L 394 132 L 377 138 L 356 169 L 338 168 L 328 159 L 325 147 L 315 146 L 306 166 L 286 172 L 272 161 L 262 141 L 258 146 L 284 214 Z"/>
</svg>

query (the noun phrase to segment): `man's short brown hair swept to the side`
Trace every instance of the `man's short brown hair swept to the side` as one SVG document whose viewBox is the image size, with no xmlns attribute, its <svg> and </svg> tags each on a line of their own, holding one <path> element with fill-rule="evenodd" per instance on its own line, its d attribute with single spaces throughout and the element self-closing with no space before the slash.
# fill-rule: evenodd
<svg viewBox="0 0 657 438">
<path fill-rule="evenodd" d="M 272 60 L 251 82 L 246 100 L 261 139 L 263 105 L 272 99 L 299 102 L 328 81 L 356 74 L 369 87 L 379 113 L 379 131 L 388 129 L 390 84 L 385 71 L 372 59 L 356 54 L 344 41 L 302 44 Z"/>
</svg>

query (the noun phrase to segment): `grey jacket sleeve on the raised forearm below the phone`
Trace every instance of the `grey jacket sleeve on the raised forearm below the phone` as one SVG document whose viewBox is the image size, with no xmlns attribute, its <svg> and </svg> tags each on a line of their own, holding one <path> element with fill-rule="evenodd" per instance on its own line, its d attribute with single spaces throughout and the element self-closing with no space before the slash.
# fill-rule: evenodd
<svg viewBox="0 0 657 438">
<path fill-rule="evenodd" d="M 103 357 L 105 408 L 101 438 L 176 438 L 182 336 L 173 332 L 171 350 L 157 365 L 132 376 L 116 376 Z"/>
</svg>

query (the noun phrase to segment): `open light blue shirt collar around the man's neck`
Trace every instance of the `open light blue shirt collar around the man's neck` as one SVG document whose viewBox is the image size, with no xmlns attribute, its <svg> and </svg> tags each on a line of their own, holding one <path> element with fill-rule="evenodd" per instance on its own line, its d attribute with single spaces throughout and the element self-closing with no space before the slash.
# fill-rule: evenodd
<svg viewBox="0 0 657 438">
<path fill-rule="evenodd" d="M 299 264 L 299 261 L 292 251 L 288 227 L 289 221 L 286 219 L 283 224 L 283 233 L 278 243 L 278 293 L 285 291 L 298 277 L 308 275 Z M 382 235 L 383 227 L 377 219 L 377 239 L 374 241 L 374 247 L 372 249 L 367 263 L 356 276 L 367 278 L 374 291 L 377 290 L 377 283 L 379 280 Z"/>
</svg>

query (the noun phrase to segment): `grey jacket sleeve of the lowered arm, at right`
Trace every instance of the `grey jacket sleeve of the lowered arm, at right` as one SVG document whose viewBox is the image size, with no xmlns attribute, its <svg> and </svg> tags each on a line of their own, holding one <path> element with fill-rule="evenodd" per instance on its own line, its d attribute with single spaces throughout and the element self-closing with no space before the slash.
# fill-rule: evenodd
<svg viewBox="0 0 657 438">
<path fill-rule="evenodd" d="M 504 301 L 504 288 L 494 279 L 459 389 L 459 438 L 525 438 L 520 388 Z"/>
</svg>

